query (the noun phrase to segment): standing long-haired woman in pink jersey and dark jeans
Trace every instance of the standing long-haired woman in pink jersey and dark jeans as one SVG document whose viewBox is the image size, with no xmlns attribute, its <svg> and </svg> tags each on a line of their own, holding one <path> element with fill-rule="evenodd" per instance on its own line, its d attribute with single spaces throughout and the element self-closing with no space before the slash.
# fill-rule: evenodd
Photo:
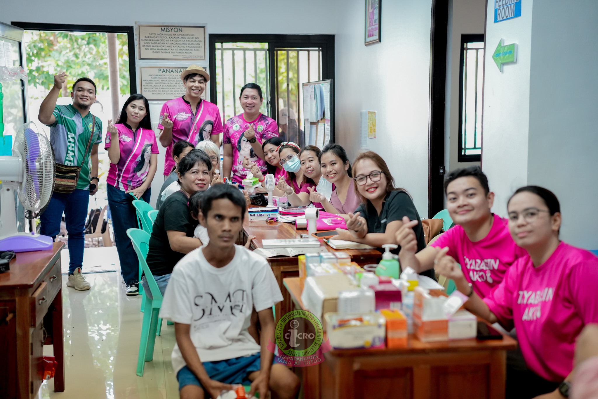
<svg viewBox="0 0 598 399">
<path fill-rule="evenodd" d="M 113 125 L 109 121 L 105 148 L 110 159 L 106 191 L 121 276 L 127 285 L 127 295 L 136 296 L 139 294 L 139 261 L 136 255 L 131 255 L 135 252 L 127 229 L 138 227 L 133 200 L 149 202 L 151 182 L 158 165 L 158 144 L 151 130 L 149 104 L 144 96 L 130 96 L 117 123 Z"/>
</svg>

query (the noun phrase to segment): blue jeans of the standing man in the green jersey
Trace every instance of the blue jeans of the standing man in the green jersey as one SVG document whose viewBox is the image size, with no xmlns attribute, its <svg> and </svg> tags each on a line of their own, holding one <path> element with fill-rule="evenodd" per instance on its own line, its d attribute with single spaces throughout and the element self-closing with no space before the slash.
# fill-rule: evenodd
<svg viewBox="0 0 598 399">
<path fill-rule="evenodd" d="M 69 233 L 69 275 L 77 267 L 83 269 L 85 248 L 85 221 L 89 208 L 89 190 L 75 189 L 71 194 L 54 193 L 45 212 L 39 217 L 39 233 L 56 238 L 60 233 L 60 221 L 65 214 L 66 231 Z"/>
</svg>

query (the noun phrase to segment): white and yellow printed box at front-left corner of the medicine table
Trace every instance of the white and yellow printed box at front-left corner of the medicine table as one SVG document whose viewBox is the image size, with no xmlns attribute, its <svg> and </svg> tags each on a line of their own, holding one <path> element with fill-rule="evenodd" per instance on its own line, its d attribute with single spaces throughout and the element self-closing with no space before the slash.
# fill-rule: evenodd
<svg viewBox="0 0 598 399">
<path fill-rule="evenodd" d="M 327 335 L 332 348 L 384 348 L 386 319 L 378 313 L 342 316 L 326 313 Z"/>
</svg>

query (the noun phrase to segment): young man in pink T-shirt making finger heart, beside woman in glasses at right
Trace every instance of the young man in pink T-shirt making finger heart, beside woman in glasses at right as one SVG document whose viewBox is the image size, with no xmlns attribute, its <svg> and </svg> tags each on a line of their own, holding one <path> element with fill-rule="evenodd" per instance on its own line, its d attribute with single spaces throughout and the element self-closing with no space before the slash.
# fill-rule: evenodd
<svg viewBox="0 0 598 399">
<path fill-rule="evenodd" d="M 488 179 L 480 167 L 453 170 L 447 175 L 444 191 L 447 209 L 456 226 L 416 254 L 417 240 L 413 226 L 417 221 L 404 218 L 396 232 L 396 241 L 401 246 L 401 267 L 404 270 L 410 266 L 418 273 L 432 269 L 438 251 L 448 247 L 447 254 L 461 265 L 463 275 L 472 284 L 475 293 L 484 298 L 525 251 L 511 238 L 507 220 L 490 212 L 494 193 L 490 191 Z"/>
</svg>

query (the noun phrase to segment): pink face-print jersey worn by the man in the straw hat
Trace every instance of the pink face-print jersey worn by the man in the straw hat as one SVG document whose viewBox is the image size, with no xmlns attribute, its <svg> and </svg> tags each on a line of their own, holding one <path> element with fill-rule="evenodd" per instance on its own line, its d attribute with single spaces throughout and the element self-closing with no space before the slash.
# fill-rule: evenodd
<svg viewBox="0 0 598 399">
<path fill-rule="evenodd" d="M 164 175 L 169 175 L 175 166 L 172 159 L 172 146 L 177 141 L 187 140 L 196 145 L 198 142 L 210 139 L 210 136 L 222 133 L 222 119 L 216 104 L 202 100 L 197 105 L 196 113 L 191 111 L 191 105 L 184 98 L 179 97 L 164 103 L 160 111 L 158 129 L 164 129 L 162 118 L 164 114 L 172 120 L 172 142 L 166 148 L 164 161 Z"/>
</svg>

